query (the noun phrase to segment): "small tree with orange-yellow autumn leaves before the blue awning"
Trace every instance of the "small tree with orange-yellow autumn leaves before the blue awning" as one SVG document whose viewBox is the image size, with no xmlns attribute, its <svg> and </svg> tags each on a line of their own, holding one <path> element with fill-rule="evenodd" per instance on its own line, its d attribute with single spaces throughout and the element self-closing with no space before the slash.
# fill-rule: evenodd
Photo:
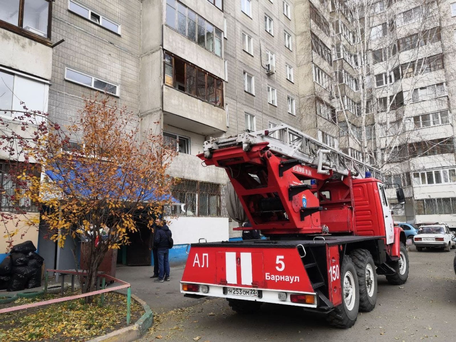
<svg viewBox="0 0 456 342">
<path fill-rule="evenodd" d="M 138 220 L 153 229 L 171 204 L 166 169 L 176 153 L 161 134 L 141 131 L 137 115 L 98 96 L 85 100 L 78 121 L 48 121 L 45 134 L 23 146 L 26 163 L 39 164 L 46 177 L 19 173 L 22 196 L 41 206 L 41 222 L 60 247 L 69 236 L 87 244 L 83 292 L 95 289 L 108 250 L 128 244 Z"/>
</svg>

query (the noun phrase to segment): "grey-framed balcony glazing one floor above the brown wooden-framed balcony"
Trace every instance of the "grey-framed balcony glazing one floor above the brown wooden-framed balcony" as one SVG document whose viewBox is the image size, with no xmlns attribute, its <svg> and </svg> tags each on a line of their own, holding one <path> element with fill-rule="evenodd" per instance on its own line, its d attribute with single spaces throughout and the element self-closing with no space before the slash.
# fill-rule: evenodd
<svg viewBox="0 0 456 342">
<path fill-rule="evenodd" d="M 166 25 L 222 57 L 222 30 L 176 0 L 166 0 Z"/>
</svg>

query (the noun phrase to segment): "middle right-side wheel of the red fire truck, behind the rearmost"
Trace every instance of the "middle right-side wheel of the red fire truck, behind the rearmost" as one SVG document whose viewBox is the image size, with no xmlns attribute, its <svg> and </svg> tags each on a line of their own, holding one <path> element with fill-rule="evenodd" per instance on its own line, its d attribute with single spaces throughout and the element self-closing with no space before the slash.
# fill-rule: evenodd
<svg viewBox="0 0 456 342">
<path fill-rule="evenodd" d="M 359 311 L 370 312 L 377 302 L 377 272 L 372 255 L 367 249 L 355 249 L 350 253 L 355 264 L 359 285 Z"/>
</svg>

